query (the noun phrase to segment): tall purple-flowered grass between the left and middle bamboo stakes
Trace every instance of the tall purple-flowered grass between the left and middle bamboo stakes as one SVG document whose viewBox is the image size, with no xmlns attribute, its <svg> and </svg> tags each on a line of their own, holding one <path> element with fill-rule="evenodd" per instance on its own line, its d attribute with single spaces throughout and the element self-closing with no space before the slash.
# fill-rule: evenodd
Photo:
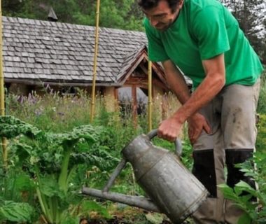
<svg viewBox="0 0 266 224">
<path fill-rule="evenodd" d="M 65 132 L 90 121 L 90 98 L 83 92 L 75 97 L 60 96 L 58 93 L 29 94 L 28 97 L 9 94 L 6 113 L 41 130 Z"/>
</svg>

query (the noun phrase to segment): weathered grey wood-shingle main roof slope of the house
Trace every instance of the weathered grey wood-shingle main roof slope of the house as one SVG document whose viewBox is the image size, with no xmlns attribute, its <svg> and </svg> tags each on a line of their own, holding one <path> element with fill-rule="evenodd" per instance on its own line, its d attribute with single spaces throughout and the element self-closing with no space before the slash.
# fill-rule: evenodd
<svg viewBox="0 0 266 224">
<path fill-rule="evenodd" d="M 3 72 L 7 79 L 91 83 L 94 27 L 3 17 Z M 146 45 L 140 31 L 99 28 L 97 83 L 115 85 L 134 52 Z"/>
</svg>

